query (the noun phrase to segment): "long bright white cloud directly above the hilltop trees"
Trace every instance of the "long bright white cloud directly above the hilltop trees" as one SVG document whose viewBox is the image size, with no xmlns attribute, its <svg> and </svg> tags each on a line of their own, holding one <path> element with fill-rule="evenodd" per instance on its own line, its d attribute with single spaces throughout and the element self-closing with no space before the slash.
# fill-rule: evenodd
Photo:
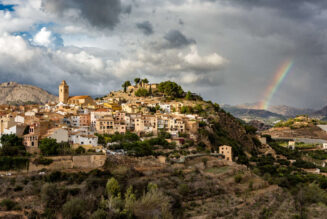
<svg viewBox="0 0 327 219">
<path fill-rule="evenodd" d="M 129 58 L 121 59 L 116 63 L 113 66 L 113 73 L 120 78 L 139 74 L 174 78 L 182 83 L 196 83 L 200 80 L 206 81 L 226 64 L 227 60 L 217 53 L 199 55 L 196 45 L 190 46 L 187 52 L 176 49 L 160 50 L 160 52 L 139 49 Z"/>
</svg>

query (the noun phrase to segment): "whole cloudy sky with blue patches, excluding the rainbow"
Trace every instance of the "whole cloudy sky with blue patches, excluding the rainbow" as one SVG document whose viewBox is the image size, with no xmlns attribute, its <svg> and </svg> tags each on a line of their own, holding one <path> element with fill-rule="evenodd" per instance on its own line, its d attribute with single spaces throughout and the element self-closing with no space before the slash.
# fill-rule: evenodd
<svg viewBox="0 0 327 219">
<path fill-rule="evenodd" d="M 103 96 L 135 77 L 219 104 L 327 105 L 325 0 L 0 0 L 0 82 Z"/>
</svg>

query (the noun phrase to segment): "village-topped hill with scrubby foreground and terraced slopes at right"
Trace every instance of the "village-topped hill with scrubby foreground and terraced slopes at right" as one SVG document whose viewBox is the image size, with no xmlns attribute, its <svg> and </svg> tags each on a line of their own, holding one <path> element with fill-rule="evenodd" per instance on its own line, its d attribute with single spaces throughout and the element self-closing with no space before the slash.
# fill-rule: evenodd
<svg viewBox="0 0 327 219">
<path fill-rule="evenodd" d="M 307 139 L 327 139 L 321 122 L 260 131 L 171 81 L 135 78 L 95 99 L 66 81 L 58 91 L 0 107 L 0 218 L 327 214 L 326 140 Z"/>
</svg>

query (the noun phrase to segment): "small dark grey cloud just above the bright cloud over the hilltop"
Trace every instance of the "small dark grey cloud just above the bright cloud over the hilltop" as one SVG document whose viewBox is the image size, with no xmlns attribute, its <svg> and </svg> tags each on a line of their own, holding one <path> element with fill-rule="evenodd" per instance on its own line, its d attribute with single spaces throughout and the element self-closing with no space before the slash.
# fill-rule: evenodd
<svg viewBox="0 0 327 219">
<path fill-rule="evenodd" d="M 167 48 L 183 48 L 191 44 L 195 44 L 196 41 L 191 38 L 187 38 L 179 30 L 170 30 L 164 39 L 167 41 Z"/>
</svg>

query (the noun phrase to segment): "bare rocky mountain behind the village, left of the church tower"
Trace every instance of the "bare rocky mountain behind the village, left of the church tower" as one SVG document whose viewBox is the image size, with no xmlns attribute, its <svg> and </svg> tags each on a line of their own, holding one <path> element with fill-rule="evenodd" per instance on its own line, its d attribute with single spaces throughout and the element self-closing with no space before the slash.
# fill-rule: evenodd
<svg viewBox="0 0 327 219">
<path fill-rule="evenodd" d="M 58 97 L 32 85 L 5 82 L 0 84 L 0 104 L 44 104 L 58 101 Z"/>
</svg>

